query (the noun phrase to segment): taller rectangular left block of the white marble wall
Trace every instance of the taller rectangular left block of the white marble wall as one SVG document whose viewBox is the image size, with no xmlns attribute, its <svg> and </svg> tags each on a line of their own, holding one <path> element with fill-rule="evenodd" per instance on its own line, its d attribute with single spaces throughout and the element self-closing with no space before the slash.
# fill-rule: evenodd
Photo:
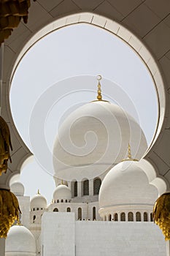
<svg viewBox="0 0 170 256">
<path fill-rule="evenodd" d="M 49 213 L 42 216 L 42 255 L 75 255 L 74 213 Z"/>
</svg>

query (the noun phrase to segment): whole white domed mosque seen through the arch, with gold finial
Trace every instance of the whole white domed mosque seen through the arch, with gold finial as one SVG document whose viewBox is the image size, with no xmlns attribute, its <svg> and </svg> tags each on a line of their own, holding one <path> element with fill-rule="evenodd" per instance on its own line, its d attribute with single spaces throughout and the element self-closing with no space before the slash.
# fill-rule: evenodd
<svg viewBox="0 0 170 256">
<path fill-rule="evenodd" d="M 7 256 L 166 255 L 152 219 L 158 189 L 142 159 L 144 132 L 125 110 L 102 99 L 100 79 L 97 99 L 74 110 L 58 130 L 50 205 L 39 191 L 30 201 L 20 181 L 10 185 L 22 225 L 9 230 Z"/>
</svg>

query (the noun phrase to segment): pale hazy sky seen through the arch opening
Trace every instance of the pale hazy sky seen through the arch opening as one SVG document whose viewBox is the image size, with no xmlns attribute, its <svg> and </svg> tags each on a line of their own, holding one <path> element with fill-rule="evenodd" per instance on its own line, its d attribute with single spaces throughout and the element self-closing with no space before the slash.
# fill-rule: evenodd
<svg viewBox="0 0 170 256">
<path fill-rule="evenodd" d="M 104 99 L 134 116 L 150 145 L 158 103 L 152 78 L 139 56 L 121 39 L 96 26 L 59 29 L 36 42 L 12 80 L 12 116 L 34 153 L 20 177 L 26 195 L 32 197 L 40 189 L 50 203 L 55 189 L 52 159 L 58 125 L 72 110 L 96 98 L 97 75 L 103 77 Z"/>
</svg>

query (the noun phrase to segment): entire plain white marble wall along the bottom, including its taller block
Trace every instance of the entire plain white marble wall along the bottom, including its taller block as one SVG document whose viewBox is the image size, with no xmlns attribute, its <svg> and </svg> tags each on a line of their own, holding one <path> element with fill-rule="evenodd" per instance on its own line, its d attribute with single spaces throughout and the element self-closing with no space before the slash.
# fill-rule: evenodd
<svg viewBox="0 0 170 256">
<path fill-rule="evenodd" d="M 43 256 L 166 256 L 166 241 L 153 222 L 78 222 L 74 213 L 45 212 L 42 249 Z"/>
</svg>

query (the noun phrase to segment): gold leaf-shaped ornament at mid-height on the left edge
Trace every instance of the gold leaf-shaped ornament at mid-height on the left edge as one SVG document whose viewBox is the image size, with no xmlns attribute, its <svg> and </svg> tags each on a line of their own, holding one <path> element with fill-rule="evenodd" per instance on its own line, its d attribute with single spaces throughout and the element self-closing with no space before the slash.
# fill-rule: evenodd
<svg viewBox="0 0 170 256">
<path fill-rule="evenodd" d="M 9 148 L 12 150 L 9 127 L 6 121 L 0 116 L 0 176 L 1 173 L 7 172 L 8 159 L 12 162 Z"/>
</svg>

